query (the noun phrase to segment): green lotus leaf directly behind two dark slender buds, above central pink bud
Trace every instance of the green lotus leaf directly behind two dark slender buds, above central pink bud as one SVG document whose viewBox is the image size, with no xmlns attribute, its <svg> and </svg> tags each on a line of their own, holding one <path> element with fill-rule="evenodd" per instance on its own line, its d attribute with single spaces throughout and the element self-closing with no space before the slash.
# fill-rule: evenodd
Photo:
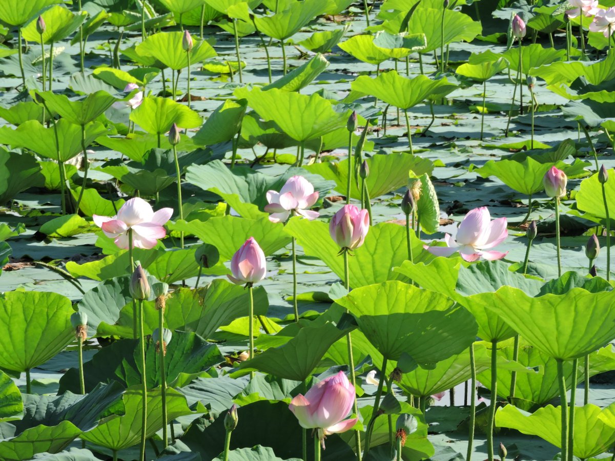
<svg viewBox="0 0 615 461">
<path fill-rule="evenodd" d="M 312 164 L 304 168 L 310 173 L 335 181 L 336 190 L 345 194 L 349 161 L 349 159 L 344 159 L 341 162 Z M 397 191 L 407 184 L 408 172 L 410 171 L 415 175 L 423 175 L 424 173 L 431 175 L 434 171 L 434 164 L 431 160 L 422 159 L 405 152 L 395 152 L 386 156 L 375 155 L 368 157 L 365 161 L 370 168 L 370 175 L 365 179 L 365 184 L 367 184 L 372 199 Z M 361 191 L 354 181 L 351 181 L 350 196 L 357 200 L 361 197 Z"/>
</svg>

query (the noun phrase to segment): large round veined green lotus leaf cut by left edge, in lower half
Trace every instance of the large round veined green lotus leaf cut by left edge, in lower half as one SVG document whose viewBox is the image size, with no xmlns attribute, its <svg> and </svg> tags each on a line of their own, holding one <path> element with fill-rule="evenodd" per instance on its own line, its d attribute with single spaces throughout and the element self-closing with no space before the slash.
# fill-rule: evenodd
<svg viewBox="0 0 615 461">
<path fill-rule="evenodd" d="M 74 339 L 68 297 L 8 291 L 0 297 L 0 367 L 26 371 L 54 357 Z"/>
</svg>

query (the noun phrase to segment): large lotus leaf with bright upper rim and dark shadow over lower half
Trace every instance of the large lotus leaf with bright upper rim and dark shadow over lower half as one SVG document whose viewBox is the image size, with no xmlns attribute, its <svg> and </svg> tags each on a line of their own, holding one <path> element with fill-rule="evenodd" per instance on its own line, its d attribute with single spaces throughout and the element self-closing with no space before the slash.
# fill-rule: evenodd
<svg viewBox="0 0 615 461">
<path fill-rule="evenodd" d="M 476 337 L 476 322 L 466 309 L 407 283 L 363 286 L 336 302 L 354 314 L 363 334 L 389 360 L 404 354 L 428 366 L 461 353 Z"/>
</svg>

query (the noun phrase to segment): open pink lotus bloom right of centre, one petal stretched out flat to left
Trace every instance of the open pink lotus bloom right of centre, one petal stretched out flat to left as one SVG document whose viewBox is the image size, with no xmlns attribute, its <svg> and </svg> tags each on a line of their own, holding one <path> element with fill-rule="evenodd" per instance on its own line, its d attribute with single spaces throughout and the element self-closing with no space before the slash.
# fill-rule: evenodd
<svg viewBox="0 0 615 461">
<path fill-rule="evenodd" d="M 487 207 L 474 208 L 459 224 L 456 239 L 446 234 L 444 241 L 447 246 L 427 246 L 424 248 L 436 256 L 450 256 L 459 251 L 461 258 L 466 261 L 477 261 L 485 258 L 488 261 L 502 259 L 506 253 L 499 251 L 484 251 L 504 242 L 508 237 L 506 230 L 506 218 L 498 218 L 491 221 L 491 215 Z"/>
</svg>

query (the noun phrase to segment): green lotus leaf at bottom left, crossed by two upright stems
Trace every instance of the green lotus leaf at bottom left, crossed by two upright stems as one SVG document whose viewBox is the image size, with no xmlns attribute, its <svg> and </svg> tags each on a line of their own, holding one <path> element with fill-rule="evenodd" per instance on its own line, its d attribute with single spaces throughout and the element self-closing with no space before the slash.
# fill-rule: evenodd
<svg viewBox="0 0 615 461">
<path fill-rule="evenodd" d="M 173 388 L 167 388 L 167 416 L 169 421 L 191 414 L 186 397 Z M 98 426 L 81 434 L 81 438 L 111 450 L 132 447 L 141 440 L 141 408 L 143 397 L 140 388 L 129 388 L 122 398 L 124 415 L 113 415 L 101 419 Z M 162 429 L 162 392 L 161 388 L 148 390 L 148 414 L 146 438 Z"/>
</svg>

